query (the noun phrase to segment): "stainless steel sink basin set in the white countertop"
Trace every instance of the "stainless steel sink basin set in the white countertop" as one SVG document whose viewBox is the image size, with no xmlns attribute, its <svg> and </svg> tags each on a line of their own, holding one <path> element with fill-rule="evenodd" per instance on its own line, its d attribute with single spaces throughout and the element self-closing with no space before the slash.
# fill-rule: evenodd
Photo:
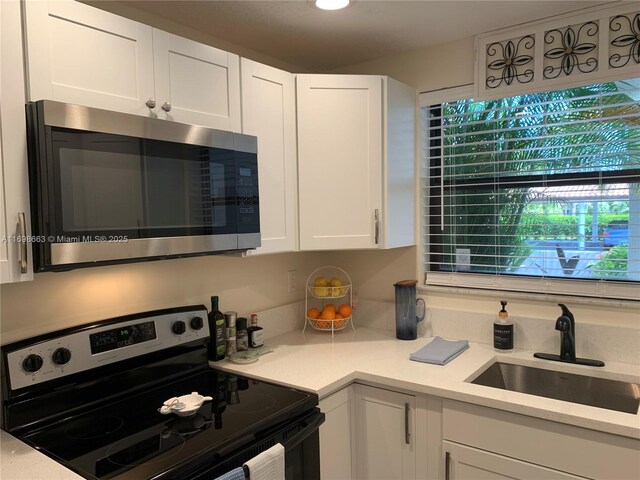
<svg viewBox="0 0 640 480">
<path fill-rule="evenodd" d="M 640 385 L 635 383 L 511 363 L 496 362 L 471 383 L 634 415 L 640 405 Z"/>
</svg>

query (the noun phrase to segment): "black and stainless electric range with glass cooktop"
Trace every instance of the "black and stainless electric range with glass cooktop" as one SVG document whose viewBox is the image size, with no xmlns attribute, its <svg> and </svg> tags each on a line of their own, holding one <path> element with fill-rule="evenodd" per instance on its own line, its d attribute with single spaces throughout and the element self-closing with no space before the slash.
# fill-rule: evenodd
<svg viewBox="0 0 640 480">
<path fill-rule="evenodd" d="M 316 394 L 210 369 L 204 306 L 2 347 L 2 427 L 90 479 L 214 479 L 276 443 L 287 480 L 319 479 Z M 210 396 L 193 415 L 163 403 Z"/>
</svg>

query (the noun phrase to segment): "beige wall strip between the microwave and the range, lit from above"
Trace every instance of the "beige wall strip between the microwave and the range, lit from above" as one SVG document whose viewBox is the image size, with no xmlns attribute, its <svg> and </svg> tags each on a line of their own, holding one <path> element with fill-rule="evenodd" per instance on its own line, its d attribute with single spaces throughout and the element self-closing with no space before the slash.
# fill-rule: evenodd
<svg viewBox="0 0 640 480">
<path fill-rule="evenodd" d="M 129 265 L 39 273 L 32 282 L 0 287 L 2 343 L 129 313 L 180 305 L 251 313 L 304 298 L 311 271 L 324 264 L 318 253 L 205 256 Z M 298 289 L 287 292 L 287 272 Z"/>
</svg>

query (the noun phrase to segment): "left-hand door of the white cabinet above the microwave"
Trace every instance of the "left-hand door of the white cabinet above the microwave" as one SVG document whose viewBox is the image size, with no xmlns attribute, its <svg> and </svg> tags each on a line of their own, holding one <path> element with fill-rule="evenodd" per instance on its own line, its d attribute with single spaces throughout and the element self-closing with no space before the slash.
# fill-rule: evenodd
<svg viewBox="0 0 640 480">
<path fill-rule="evenodd" d="M 151 27 L 68 0 L 25 8 L 30 100 L 150 114 Z"/>
</svg>

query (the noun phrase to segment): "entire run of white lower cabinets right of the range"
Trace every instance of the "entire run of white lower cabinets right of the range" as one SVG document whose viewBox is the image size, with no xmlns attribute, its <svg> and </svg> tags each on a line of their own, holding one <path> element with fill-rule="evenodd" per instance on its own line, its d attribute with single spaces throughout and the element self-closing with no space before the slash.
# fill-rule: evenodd
<svg viewBox="0 0 640 480">
<path fill-rule="evenodd" d="M 640 440 L 353 384 L 320 401 L 323 480 L 640 478 Z"/>
</svg>

